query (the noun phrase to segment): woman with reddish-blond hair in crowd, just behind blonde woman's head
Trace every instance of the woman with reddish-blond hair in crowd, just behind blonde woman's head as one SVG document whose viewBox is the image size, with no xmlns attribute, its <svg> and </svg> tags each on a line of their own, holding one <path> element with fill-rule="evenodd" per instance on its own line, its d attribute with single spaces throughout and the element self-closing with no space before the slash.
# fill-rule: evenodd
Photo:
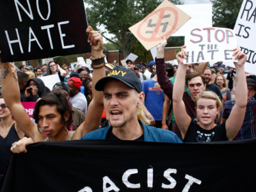
<svg viewBox="0 0 256 192">
<path fill-rule="evenodd" d="M 231 100 L 231 93 L 230 90 L 227 88 L 226 79 L 223 75 L 217 75 L 213 83 L 220 88 L 223 97 L 223 103 L 225 103 L 227 100 Z"/>
</svg>

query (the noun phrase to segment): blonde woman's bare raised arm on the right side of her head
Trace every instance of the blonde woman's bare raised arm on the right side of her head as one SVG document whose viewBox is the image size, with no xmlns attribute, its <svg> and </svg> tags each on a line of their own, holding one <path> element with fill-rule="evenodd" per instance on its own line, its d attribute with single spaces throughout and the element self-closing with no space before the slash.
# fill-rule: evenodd
<svg viewBox="0 0 256 192">
<path fill-rule="evenodd" d="M 247 104 L 247 85 L 244 72 L 244 63 L 247 56 L 239 48 L 233 49 L 233 51 L 233 56 L 235 56 L 235 59 L 238 59 L 237 63 L 234 62 L 236 66 L 236 104 L 226 121 L 228 140 L 233 140 L 241 129 Z"/>
</svg>

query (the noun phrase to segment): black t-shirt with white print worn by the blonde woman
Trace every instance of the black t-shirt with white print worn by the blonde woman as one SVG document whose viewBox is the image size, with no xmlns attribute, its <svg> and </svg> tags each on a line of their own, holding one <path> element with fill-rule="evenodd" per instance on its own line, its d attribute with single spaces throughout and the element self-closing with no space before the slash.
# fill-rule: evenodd
<svg viewBox="0 0 256 192">
<path fill-rule="evenodd" d="M 188 131 L 184 138 L 184 143 L 202 143 L 211 141 L 227 141 L 227 132 L 225 123 L 221 125 L 216 125 L 211 130 L 202 129 L 198 123 L 191 119 Z"/>
</svg>

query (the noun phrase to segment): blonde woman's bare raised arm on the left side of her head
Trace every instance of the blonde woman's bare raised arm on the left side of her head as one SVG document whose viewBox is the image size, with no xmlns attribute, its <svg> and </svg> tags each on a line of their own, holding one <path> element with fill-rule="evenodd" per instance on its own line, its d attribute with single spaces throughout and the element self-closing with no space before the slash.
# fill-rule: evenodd
<svg viewBox="0 0 256 192">
<path fill-rule="evenodd" d="M 186 59 L 186 57 L 188 56 L 188 52 L 186 52 L 185 48 L 186 46 L 183 46 L 182 51 L 179 52 L 176 56 L 179 63 L 179 67 L 177 70 L 175 84 L 173 86 L 172 98 L 175 121 L 180 129 L 183 139 L 186 135 L 186 132 L 188 131 L 188 127 L 191 122 L 191 117 L 188 115 L 184 101 L 182 100 L 186 77 L 186 65 L 183 64 L 183 59 Z"/>
</svg>

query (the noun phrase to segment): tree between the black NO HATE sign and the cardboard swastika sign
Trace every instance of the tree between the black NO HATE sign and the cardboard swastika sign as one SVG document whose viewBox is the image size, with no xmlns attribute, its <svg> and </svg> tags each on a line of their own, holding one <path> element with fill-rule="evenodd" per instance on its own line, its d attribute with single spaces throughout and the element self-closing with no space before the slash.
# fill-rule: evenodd
<svg viewBox="0 0 256 192">
<path fill-rule="evenodd" d="M 123 51 L 126 57 L 132 47 L 138 44 L 129 27 L 146 17 L 161 1 L 163 0 L 87 0 L 88 23 Z M 177 4 L 179 0 L 172 2 Z M 114 37 L 108 38 L 104 30 Z"/>
</svg>

